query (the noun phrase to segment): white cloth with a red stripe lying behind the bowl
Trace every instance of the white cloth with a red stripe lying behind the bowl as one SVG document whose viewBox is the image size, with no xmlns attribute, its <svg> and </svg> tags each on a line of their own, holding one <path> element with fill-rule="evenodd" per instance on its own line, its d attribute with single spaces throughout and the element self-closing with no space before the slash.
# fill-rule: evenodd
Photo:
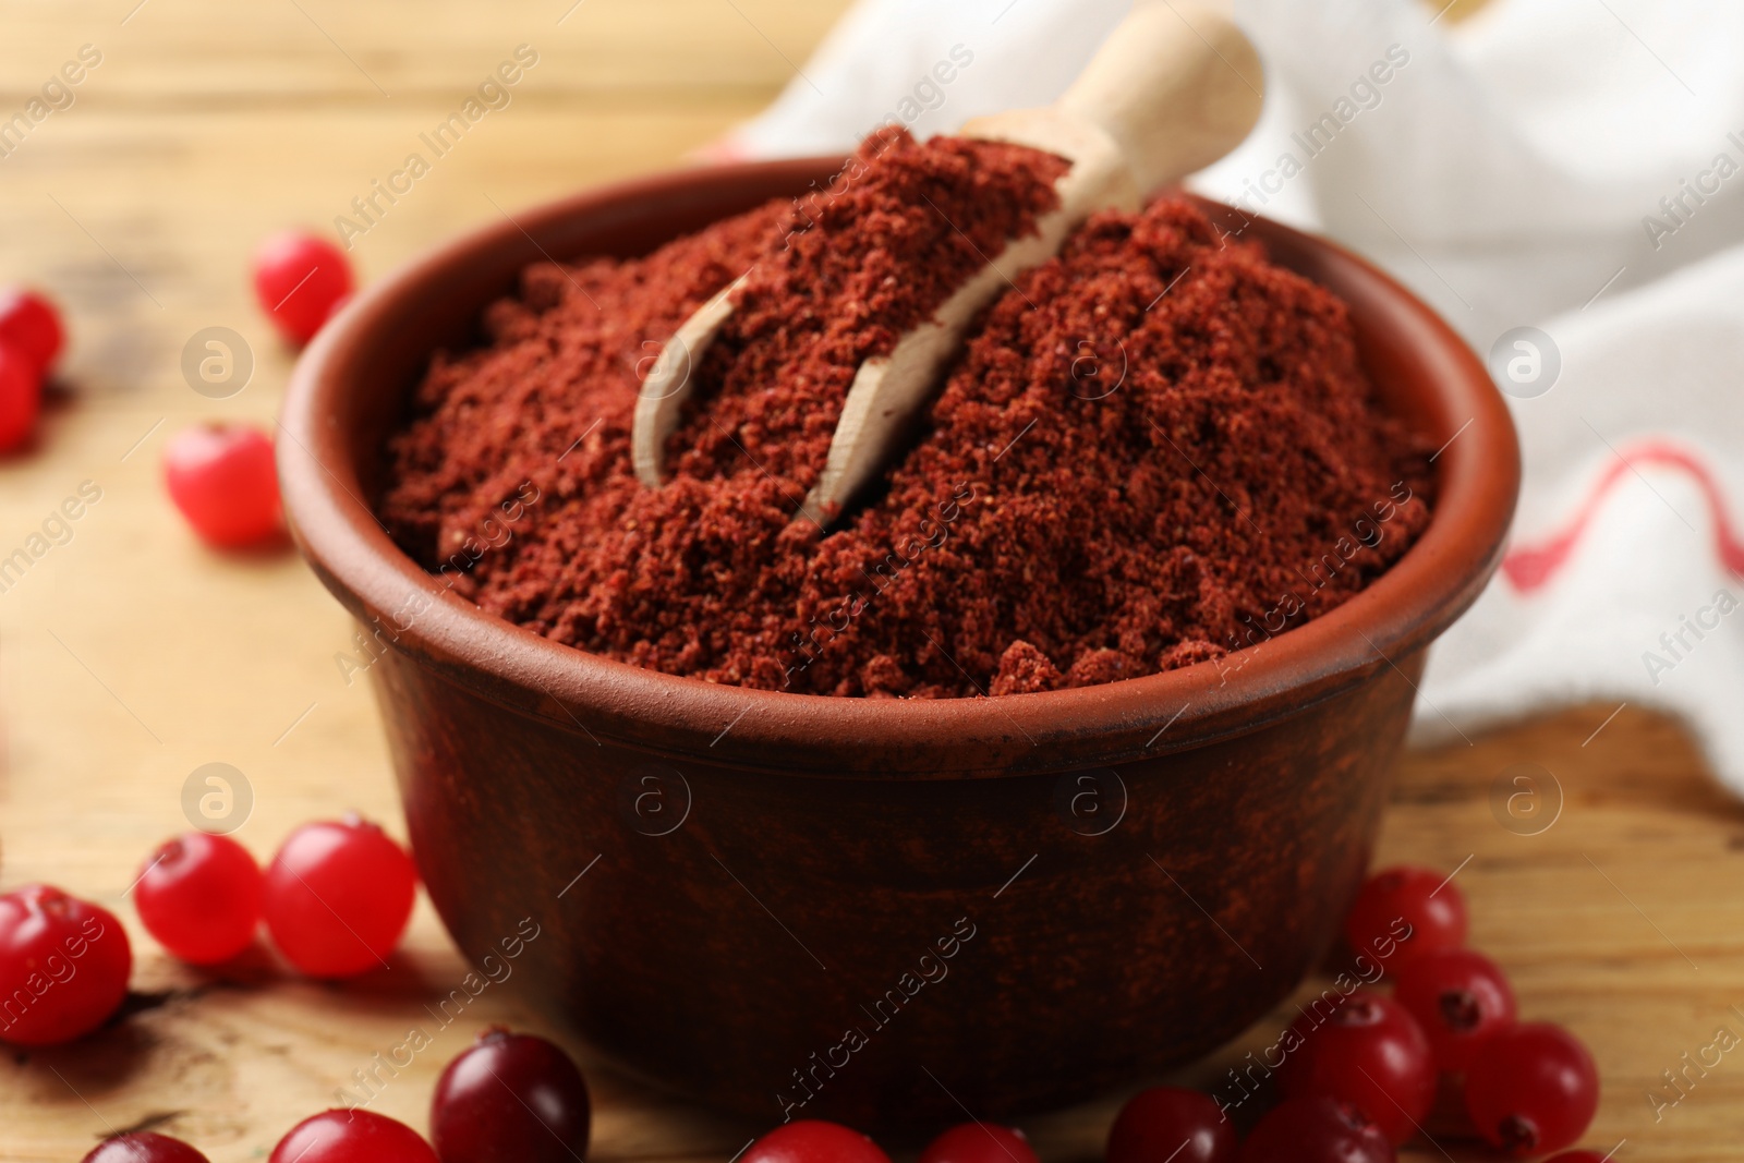
<svg viewBox="0 0 1744 1163">
<path fill-rule="evenodd" d="M 891 117 L 924 136 L 1046 103 L 1125 9 L 862 0 L 713 152 L 848 150 Z M 1458 24 L 1406 0 L 1235 9 L 1266 112 L 1191 185 L 1367 255 L 1481 356 L 1538 328 L 1540 387 L 1561 363 L 1510 399 L 1510 556 L 1434 650 L 1416 738 L 1657 706 L 1744 793 L 1744 5 L 1493 0 Z M 971 61 L 935 75 L 954 51 Z M 1509 357 L 1529 373 L 1531 349 L 1491 368 Z"/>
</svg>

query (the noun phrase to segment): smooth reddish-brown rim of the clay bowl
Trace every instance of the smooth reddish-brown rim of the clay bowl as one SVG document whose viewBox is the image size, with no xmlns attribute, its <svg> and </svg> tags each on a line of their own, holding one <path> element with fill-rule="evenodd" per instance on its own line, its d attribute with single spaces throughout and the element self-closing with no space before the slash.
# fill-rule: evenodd
<svg viewBox="0 0 1744 1163">
<path fill-rule="evenodd" d="M 1198 663 L 1097 687 L 999 697 L 863 699 L 753 690 L 664 675 L 562 645 L 485 614 L 436 584 L 363 502 L 335 401 L 347 368 L 380 328 L 433 282 L 520 253 L 582 216 L 661 213 L 677 194 L 773 181 L 799 192 L 841 159 L 741 162 L 670 171 L 586 190 L 504 216 L 403 263 L 364 288 L 305 349 L 286 391 L 279 476 L 291 534 L 330 591 L 359 619 L 392 617 L 389 647 L 474 694 L 581 741 L 809 776 L 996 776 L 1111 765 L 1257 731 L 1395 671 L 1481 593 L 1500 560 L 1519 490 L 1519 445 L 1484 364 L 1435 312 L 1366 260 L 1325 239 L 1242 214 L 1268 244 L 1313 255 L 1381 303 L 1385 324 L 1427 368 L 1425 405 L 1448 443 L 1437 453 L 1430 525 L 1390 570 L 1338 609 L 1240 650 L 1238 668 Z M 569 255 L 563 255 L 569 258 Z M 1350 295 L 1345 293 L 1346 302 Z M 474 314 L 483 309 L 478 303 Z M 1359 317 L 1357 303 L 1352 316 Z M 410 384 L 394 391 L 410 391 Z M 384 389 L 385 391 L 385 389 Z M 1460 417 L 1465 417 L 1463 420 Z M 417 609 L 415 617 L 406 610 Z M 410 622 L 401 628 L 403 622 Z M 1243 657 L 1247 656 L 1247 657 Z M 373 668 L 371 668 L 373 670 Z"/>
</svg>

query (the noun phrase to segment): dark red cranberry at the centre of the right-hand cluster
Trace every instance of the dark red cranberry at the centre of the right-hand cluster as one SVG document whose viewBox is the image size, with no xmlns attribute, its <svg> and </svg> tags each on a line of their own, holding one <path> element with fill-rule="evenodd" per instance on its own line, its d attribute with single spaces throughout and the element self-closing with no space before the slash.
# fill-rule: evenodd
<svg viewBox="0 0 1744 1163">
<path fill-rule="evenodd" d="M 1400 1144 L 1435 1104 L 1435 1057 L 1404 1006 L 1385 994 L 1355 992 L 1327 1013 L 1308 1011 L 1291 1027 L 1296 1044 L 1278 1071 L 1289 1097 L 1343 1098 Z"/>
</svg>

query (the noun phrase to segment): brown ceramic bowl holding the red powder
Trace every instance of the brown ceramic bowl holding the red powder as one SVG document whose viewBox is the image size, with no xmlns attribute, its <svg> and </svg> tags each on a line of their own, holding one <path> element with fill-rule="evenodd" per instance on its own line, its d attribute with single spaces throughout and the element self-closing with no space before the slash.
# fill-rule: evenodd
<svg viewBox="0 0 1744 1163">
<path fill-rule="evenodd" d="M 1425 650 L 1496 565 L 1519 462 L 1482 364 L 1423 303 L 1254 221 L 1350 303 L 1388 405 L 1448 446 L 1423 539 L 1226 673 L 933 703 L 710 685 L 488 617 L 389 541 L 384 436 L 521 267 L 640 255 L 834 169 L 664 174 L 439 248 L 307 350 L 279 471 L 310 565 L 385 643 L 406 823 L 460 949 L 492 969 L 537 926 L 513 962 L 530 997 L 705 1102 L 937 1128 L 1200 1057 L 1301 982 L 1367 867 Z"/>
</svg>

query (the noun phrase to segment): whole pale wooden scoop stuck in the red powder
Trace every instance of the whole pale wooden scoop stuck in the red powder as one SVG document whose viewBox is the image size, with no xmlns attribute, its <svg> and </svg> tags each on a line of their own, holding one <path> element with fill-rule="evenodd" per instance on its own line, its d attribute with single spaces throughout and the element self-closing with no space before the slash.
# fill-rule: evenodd
<svg viewBox="0 0 1744 1163">
<path fill-rule="evenodd" d="M 1036 232 L 1013 239 L 905 333 L 888 356 L 860 364 L 828 460 L 802 513 L 825 523 L 879 474 L 909 420 L 926 405 L 975 312 L 1018 272 L 1053 256 L 1090 214 L 1134 211 L 1144 197 L 1209 166 L 1259 119 L 1261 66 L 1254 47 L 1207 0 L 1135 0 L 1132 12 L 1052 106 L 977 117 L 964 138 L 1025 145 L 1067 159 L 1055 181 L 1059 207 Z M 732 282 L 684 321 L 642 382 L 630 450 L 637 478 L 661 483 L 661 457 L 692 391 L 692 368 L 732 314 Z"/>
</svg>

